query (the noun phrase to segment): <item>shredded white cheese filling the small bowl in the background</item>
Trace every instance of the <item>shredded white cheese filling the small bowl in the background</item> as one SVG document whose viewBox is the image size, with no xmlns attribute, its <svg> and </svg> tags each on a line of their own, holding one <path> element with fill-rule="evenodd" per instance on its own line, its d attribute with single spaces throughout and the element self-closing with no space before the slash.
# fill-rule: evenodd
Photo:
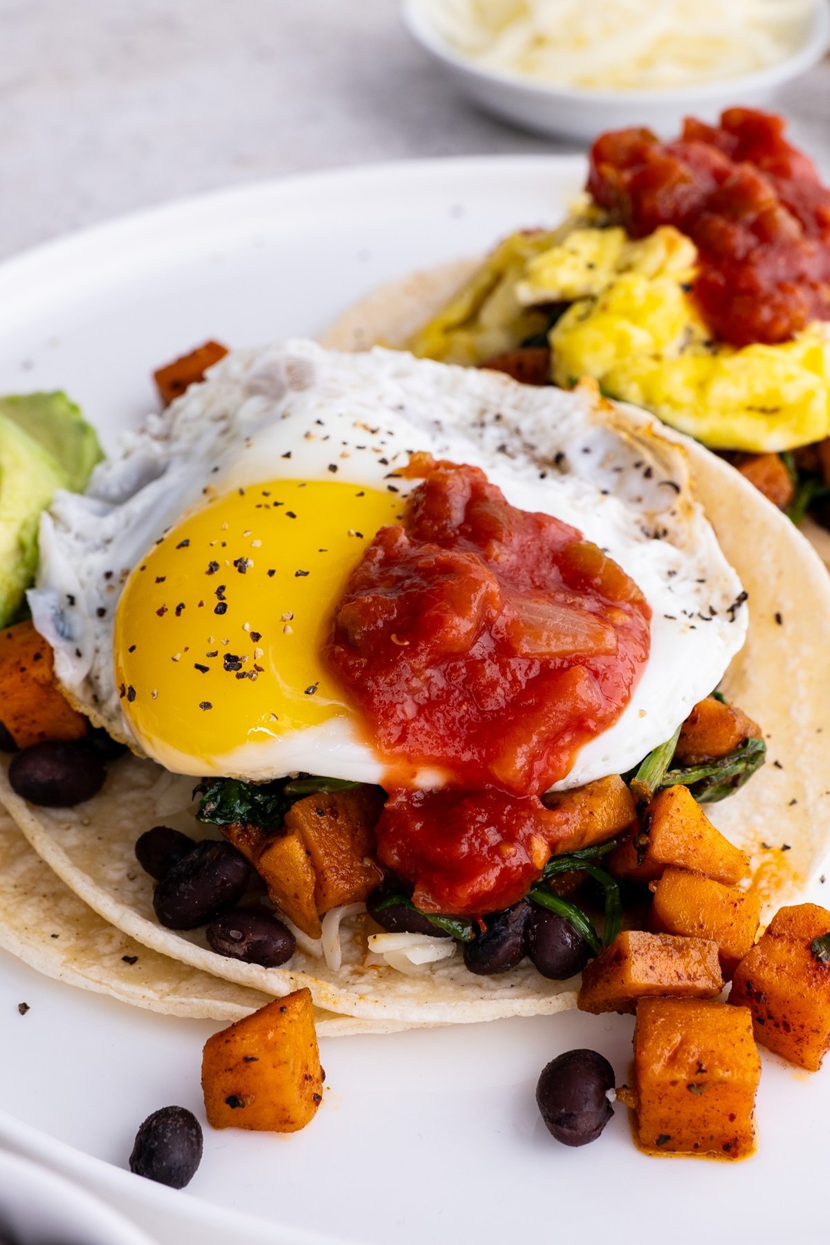
<svg viewBox="0 0 830 1245">
<path fill-rule="evenodd" d="M 421 0 L 483 68 L 548 86 L 635 90 L 738 77 L 804 42 L 814 0 Z"/>
</svg>

